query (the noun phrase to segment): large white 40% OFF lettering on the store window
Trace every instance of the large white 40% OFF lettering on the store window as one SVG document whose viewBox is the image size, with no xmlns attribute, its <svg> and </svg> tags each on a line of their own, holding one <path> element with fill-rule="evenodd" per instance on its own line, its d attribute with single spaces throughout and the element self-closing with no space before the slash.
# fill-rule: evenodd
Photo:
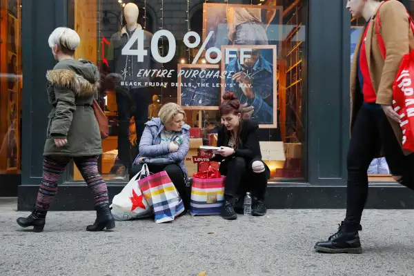
<svg viewBox="0 0 414 276">
<path fill-rule="evenodd" d="M 199 51 L 197 52 L 197 55 L 195 56 L 193 60 L 193 64 L 197 63 L 201 55 L 201 52 L 206 50 L 207 43 L 208 41 L 210 41 L 213 34 L 214 34 L 213 31 L 210 31 L 208 33 L 206 40 L 204 40 L 203 44 L 201 45 L 201 48 L 199 49 Z M 165 57 L 162 57 L 158 51 L 158 42 L 159 42 L 159 39 L 161 39 L 161 37 L 166 37 L 166 39 L 168 40 L 168 52 Z M 195 41 L 190 42 L 190 37 L 194 37 Z M 197 34 L 197 32 L 191 31 L 191 32 L 187 32 L 186 35 L 184 35 L 183 41 L 184 41 L 184 44 L 186 44 L 188 48 L 196 48 L 199 46 L 201 39 L 200 39 L 199 34 Z M 131 49 L 132 46 L 135 45 L 135 42 L 137 42 L 137 46 L 138 46 L 137 49 Z M 151 41 L 151 53 L 152 53 L 153 59 L 155 59 L 159 63 L 168 63 L 174 58 L 176 48 L 177 48 L 177 44 L 175 43 L 175 37 L 174 37 L 174 34 L 172 34 L 172 32 L 170 32 L 169 30 L 159 30 L 155 32 L 154 36 L 152 37 L 152 41 Z M 238 50 L 240 52 L 240 62 L 243 64 L 244 59 L 250 58 L 250 53 L 252 52 L 252 49 L 251 48 L 240 48 Z M 213 52 L 216 54 L 215 58 L 210 57 L 211 53 Z M 237 52 L 237 49 L 226 48 L 226 53 L 225 53 L 226 64 L 229 63 L 230 58 L 237 57 L 237 55 L 234 52 Z M 132 35 L 128 43 L 126 43 L 126 45 L 122 49 L 121 54 L 137 56 L 138 62 L 144 61 L 144 57 L 148 56 L 148 50 L 144 48 L 144 30 L 138 30 L 137 32 L 134 32 L 134 34 Z M 217 47 L 211 47 L 206 50 L 206 60 L 209 63 L 212 63 L 212 64 L 219 63 L 219 61 L 221 61 L 221 56 L 222 56 L 221 50 Z"/>
</svg>

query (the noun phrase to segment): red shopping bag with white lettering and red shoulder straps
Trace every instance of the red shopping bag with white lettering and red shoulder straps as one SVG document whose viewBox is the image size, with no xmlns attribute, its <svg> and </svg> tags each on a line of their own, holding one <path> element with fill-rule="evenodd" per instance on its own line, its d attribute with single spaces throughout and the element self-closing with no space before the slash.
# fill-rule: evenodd
<svg viewBox="0 0 414 276">
<path fill-rule="evenodd" d="M 408 10 L 407 14 L 411 30 L 414 33 L 413 18 L 411 18 Z M 380 34 L 380 26 L 380 12 L 378 12 L 375 29 L 378 46 L 380 46 L 381 55 L 385 59 L 386 48 Z M 400 63 L 400 68 L 393 84 L 393 108 L 402 119 L 400 124 L 403 135 L 402 148 L 414 152 L 414 50 L 404 55 Z"/>
</svg>

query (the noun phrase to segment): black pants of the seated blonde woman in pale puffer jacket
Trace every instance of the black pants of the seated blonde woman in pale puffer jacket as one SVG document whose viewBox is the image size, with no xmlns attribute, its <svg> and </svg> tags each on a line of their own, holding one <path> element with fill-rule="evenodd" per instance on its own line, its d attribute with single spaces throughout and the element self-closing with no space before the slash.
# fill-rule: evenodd
<svg viewBox="0 0 414 276">
<path fill-rule="evenodd" d="M 138 164 L 132 167 L 130 170 L 130 179 L 137 175 L 138 172 L 141 171 L 143 164 Z M 175 188 L 177 189 L 181 199 L 183 199 L 184 207 L 186 210 L 190 208 L 190 197 L 187 193 L 186 188 L 186 181 L 184 179 L 184 172 L 177 164 L 170 164 L 170 165 L 156 165 L 156 164 L 148 164 L 148 169 L 152 173 L 161 172 L 165 170 L 170 177 L 172 184 L 174 184 Z"/>
</svg>

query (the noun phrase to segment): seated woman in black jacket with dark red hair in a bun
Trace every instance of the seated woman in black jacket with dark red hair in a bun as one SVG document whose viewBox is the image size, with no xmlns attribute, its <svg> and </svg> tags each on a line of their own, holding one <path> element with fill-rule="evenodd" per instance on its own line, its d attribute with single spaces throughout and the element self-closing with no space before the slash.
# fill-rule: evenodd
<svg viewBox="0 0 414 276">
<path fill-rule="evenodd" d="M 268 166 L 262 161 L 258 129 L 252 120 L 242 119 L 240 101 L 233 92 L 223 96 L 220 106 L 222 125 L 219 128 L 217 155 L 211 154 L 211 161 L 219 161 L 221 175 L 226 175 L 226 188 L 221 217 L 237 219 L 236 213 L 243 213 L 246 192 L 253 195 L 252 215 L 266 214 L 263 203 L 270 177 Z"/>
</svg>

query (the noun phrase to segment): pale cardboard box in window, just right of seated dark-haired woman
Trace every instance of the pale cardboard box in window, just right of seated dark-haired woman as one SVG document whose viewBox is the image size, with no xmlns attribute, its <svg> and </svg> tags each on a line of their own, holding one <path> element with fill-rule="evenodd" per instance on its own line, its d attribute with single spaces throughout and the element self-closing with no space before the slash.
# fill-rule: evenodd
<svg viewBox="0 0 414 276">
<path fill-rule="evenodd" d="M 262 160 L 270 169 L 270 179 L 276 177 L 276 171 L 284 167 L 286 157 L 282 141 L 261 141 Z"/>
</svg>

